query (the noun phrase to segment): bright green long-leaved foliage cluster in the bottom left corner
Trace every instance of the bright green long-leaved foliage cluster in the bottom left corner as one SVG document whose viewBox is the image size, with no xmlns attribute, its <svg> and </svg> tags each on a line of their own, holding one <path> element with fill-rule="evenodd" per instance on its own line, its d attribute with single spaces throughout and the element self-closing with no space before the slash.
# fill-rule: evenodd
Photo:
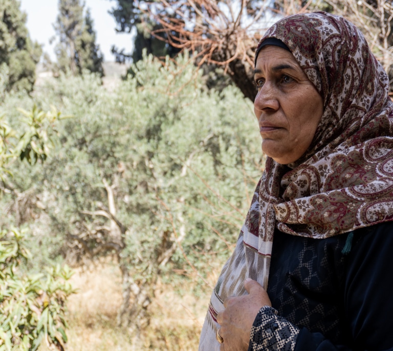
<svg viewBox="0 0 393 351">
<path fill-rule="evenodd" d="M 0 231 L 0 350 L 36 350 L 42 340 L 57 349 L 67 342 L 64 302 L 72 294 L 67 266 L 23 274 L 31 255 L 26 230 Z"/>
</svg>

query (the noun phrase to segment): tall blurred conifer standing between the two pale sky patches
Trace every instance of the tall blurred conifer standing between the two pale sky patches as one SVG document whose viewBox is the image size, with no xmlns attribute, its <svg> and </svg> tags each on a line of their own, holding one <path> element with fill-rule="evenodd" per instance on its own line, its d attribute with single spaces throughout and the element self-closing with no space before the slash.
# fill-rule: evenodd
<svg viewBox="0 0 393 351">
<path fill-rule="evenodd" d="M 84 3 L 80 0 L 58 0 L 59 15 L 55 30 L 60 42 L 56 47 L 58 69 L 71 70 L 73 75 L 83 70 L 103 76 L 103 56 L 96 45 L 96 33 L 90 11 L 83 17 Z"/>
</svg>

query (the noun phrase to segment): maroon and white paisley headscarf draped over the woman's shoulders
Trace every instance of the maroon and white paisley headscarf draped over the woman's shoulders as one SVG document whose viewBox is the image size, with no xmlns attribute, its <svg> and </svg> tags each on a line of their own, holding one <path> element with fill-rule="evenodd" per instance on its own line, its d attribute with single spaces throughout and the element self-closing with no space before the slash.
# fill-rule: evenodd
<svg viewBox="0 0 393 351">
<path fill-rule="evenodd" d="M 281 165 L 267 158 L 212 294 L 200 350 L 215 349 L 216 313 L 226 297 L 246 293 L 245 278 L 267 288 L 275 229 L 318 239 L 393 221 L 393 103 L 389 79 L 364 36 L 343 17 L 315 12 L 279 20 L 257 53 L 267 38 L 290 49 L 324 112 L 299 160 Z"/>
</svg>

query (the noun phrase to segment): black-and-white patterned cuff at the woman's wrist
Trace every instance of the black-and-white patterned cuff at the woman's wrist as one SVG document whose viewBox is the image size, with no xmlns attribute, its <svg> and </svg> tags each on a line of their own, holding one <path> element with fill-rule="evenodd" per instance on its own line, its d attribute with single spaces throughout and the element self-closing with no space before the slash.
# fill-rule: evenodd
<svg viewBox="0 0 393 351">
<path fill-rule="evenodd" d="M 294 351 L 299 328 L 270 306 L 263 306 L 251 328 L 248 351 Z"/>
</svg>

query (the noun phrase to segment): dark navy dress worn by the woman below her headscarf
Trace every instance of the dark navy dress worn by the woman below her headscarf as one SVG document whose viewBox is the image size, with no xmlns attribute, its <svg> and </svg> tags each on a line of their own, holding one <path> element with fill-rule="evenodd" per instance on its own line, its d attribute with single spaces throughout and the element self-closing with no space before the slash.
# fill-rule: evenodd
<svg viewBox="0 0 393 351">
<path fill-rule="evenodd" d="M 277 341 L 288 333 L 297 334 L 295 351 L 393 350 L 393 222 L 327 239 L 276 231 L 268 295 L 277 310 L 269 322 L 276 342 L 267 342 L 267 327 L 259 325 L 249 350 L 293 349 Z M 286 321 L 297 331 L 274 335 Z"/>
</svg>

